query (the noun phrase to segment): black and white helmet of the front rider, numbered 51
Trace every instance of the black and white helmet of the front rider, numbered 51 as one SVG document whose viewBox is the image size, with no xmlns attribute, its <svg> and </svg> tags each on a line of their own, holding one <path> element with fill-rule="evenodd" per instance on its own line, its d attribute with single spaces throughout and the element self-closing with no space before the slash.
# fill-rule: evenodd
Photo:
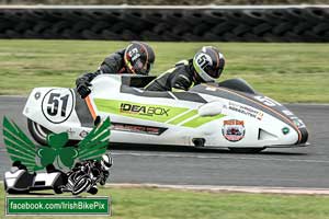
<svg viewBox="0 0 329 219">
<path fill-rule="evenodd" d="M 205 82 L 213 82 L 218 79 L 224 66 L 223 54 L 213 46 L 202 47 L 193 58 L 194 70 Z"/>
</svg>

